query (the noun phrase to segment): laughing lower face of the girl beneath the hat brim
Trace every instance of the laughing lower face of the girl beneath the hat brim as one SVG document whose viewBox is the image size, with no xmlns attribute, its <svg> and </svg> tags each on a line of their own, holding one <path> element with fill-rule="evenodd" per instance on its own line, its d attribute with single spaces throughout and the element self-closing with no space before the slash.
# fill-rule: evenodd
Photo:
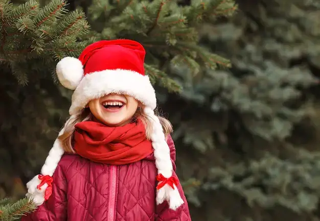
<svg viewBox="0 0 320 221">
<path fill-rule="evenodd" d="M 93 115 L 110 127 L 128 124 L 138 108 L 138 101 L 124 94 L 108 94 L 92 100 L 88 107 Z"/>
</svg>

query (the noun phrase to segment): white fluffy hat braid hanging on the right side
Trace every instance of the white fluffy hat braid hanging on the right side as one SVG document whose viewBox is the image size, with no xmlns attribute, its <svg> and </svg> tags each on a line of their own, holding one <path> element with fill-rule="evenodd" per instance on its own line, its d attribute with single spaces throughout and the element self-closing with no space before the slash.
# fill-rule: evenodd
<svg viewBox="0 0 320 221">
<path fill-rule="evenodd" d="M 144 112 L 152 122 L 151 141 L 158 174 L 162 174 L 165 178 L 170 178 L 172 176 L 173 167 L 170 157 L 170 148 L 168 146 L 168 143 L 166 142 L 162 125 L 160 124 L 159 118 L 154 115 L 154 112 L 151 108 L 145 107 Z M 166 200 L 169 204 L 169 208 L 176 210 L 179 206 L 184 204 L 184 201 L 182 200 L 177 187 L 175 186 L 175 184 L 173 184 L 173 186 L 174 189 L 166 184 L 165 186 L 157 190 L 157 205 L 162 204 Z"/>
</svg>

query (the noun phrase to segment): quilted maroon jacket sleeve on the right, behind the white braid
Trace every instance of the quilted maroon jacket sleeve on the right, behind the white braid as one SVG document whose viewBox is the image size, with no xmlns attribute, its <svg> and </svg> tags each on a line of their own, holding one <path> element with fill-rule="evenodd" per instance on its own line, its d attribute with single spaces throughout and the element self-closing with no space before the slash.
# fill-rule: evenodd
<svg viewBox="0 0 320 221">
<path fill-rule="evenodd" d="M 175 146 L 171 136 L 168 137 L 168 145 L 170 148 L 171 161 L 173 165 L 173 176 L 176 176 L 175 170 Z M 156 221 L 191 221 L 190 212 L 188 202 L 182 189 L 181 184 L 179 183 L 177 186 L 180 196 L 182 200 L 184 200 L 184 204 L 182 204 L 177 210 L 169 209 L 168 203 L 165 201 L 164 203 L 157 205 L 155 209 L 155 220 Z"/>
</svg>

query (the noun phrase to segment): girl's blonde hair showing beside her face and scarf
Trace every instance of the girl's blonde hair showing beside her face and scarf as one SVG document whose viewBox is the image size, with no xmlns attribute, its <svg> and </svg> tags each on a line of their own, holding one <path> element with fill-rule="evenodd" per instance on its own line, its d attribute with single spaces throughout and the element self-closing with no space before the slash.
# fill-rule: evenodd
<svg viewBox="0 0 320 221">
<path fill-rule="evenodd" d="M 154 114 L 159 118 L 160 124 L 164 130 L 165 137 L 172 133 L 172 125 L 171 122 L 160 116 L 157 111 Z M 61 134 L 58 139 L 61 142 L 62 148 L 66 153 L 75 153 L 73 149 L 73 136 L 75 132 L 75 125 L 82 121 L 93 120 L 94 116 L 89 110 L 89 108 L 85 108 L 79 114 L 72 115 L 64 125 L 64 132 Z M 132 122 L 136 120 L 141 120 L 146 128 L 146 137 L 151 140 L 152 134 L 152 122 L 149 120 L 147 115 L 144 113 L 143 108 L 138 107 L 135 114 L 132 117 Z"/>
</svg>

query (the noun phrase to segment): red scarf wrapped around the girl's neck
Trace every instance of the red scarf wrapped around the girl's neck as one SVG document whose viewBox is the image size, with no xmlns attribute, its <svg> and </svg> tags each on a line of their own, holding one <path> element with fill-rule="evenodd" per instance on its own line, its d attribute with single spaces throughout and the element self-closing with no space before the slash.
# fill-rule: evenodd
<svg viewBox="0 0 320 221">
<path fill-rule="evenodd" d="M 123 165 L 142 160 L 153 152 L 141 121 L 123 127 L 84 121 L 76 124 L 75 128 L 76 153 L 94 162 Z"/>
</svg>

